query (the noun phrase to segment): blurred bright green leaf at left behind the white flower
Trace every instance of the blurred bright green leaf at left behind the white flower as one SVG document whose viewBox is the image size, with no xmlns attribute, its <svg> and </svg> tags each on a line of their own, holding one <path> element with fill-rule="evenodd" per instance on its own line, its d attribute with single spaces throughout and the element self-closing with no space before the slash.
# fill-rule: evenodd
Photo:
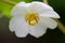
<svg viewBox="0 0 65 43">
<path fill-rule="evenodd" d="M 0 10 L 2 11 L 3 13 L 3 16 L 6 16 L 6 17 L 11 17 L 12 15 L 10 14 L 10 11 L 12 9 L 13 5 L 10 5 L 8 3 L 4 3 L 4 2 L 0 2 Z"/>
</svg>

